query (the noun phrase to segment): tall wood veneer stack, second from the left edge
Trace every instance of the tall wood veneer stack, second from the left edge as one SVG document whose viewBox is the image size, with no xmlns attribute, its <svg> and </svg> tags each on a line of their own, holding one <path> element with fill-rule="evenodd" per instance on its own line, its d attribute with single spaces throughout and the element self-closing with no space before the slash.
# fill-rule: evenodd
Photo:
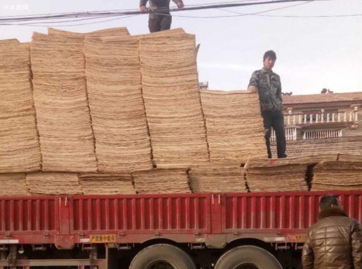
<svg viewBox="0 0 362 269">
<path fill-rule="evenodd" d="M 83 36 L 34 33 L 34 101 L 44 171 L 94 172 Z"/>
</svg>

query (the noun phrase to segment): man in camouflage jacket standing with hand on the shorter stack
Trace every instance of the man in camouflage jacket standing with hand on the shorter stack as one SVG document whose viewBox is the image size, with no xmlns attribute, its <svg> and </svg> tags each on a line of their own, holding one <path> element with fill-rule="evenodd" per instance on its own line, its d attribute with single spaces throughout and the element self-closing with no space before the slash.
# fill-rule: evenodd
<svg viewBox="0 0 362 269">
<path fill-rule="evenodd" d="M 281 83 L 280 77 L 272 71 L 275 61 L 275 52 L 267 51 L 264 54 L 264 67 L 253 72 L 248 90 L 259 94 L 260 109 L 264 118 L 268 158 L 272 158 L 270 150 L 271 128 L 275 131 L 278 158 L 286 158 L 286 133 L 282 112 Z"/>
</svg>

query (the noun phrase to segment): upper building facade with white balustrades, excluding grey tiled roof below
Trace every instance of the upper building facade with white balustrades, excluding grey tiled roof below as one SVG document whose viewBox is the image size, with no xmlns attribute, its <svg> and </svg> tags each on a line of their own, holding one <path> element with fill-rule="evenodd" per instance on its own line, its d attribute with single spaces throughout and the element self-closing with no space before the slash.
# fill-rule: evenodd
<svg viewBox="0 0 362 269">
<path fill-rule="evenodd" d="M 287 140 L 362 136 L 361 106 L 362 92 L 284 95 Z"/>
</svg>

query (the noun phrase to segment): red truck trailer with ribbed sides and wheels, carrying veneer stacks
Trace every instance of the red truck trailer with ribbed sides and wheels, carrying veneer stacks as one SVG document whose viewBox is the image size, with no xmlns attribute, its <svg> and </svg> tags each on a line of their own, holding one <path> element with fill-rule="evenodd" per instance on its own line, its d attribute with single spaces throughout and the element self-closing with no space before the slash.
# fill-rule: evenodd
<svg viewBox="0 0 362 269">
<path fill-rule="evenodd" d="M 0 198 L 0 268 L 300 268 L 331 192 Z M 362 221 L 362 191 L 335 191 Z"/>
</svg>

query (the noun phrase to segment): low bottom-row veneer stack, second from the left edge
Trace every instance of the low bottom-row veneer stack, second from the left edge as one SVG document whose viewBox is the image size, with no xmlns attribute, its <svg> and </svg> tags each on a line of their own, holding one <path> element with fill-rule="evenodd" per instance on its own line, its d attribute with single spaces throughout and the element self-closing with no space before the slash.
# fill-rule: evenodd
<svg viewBox="0 0 362 269">
<path fill-rule="evenodd" d="M 28 173 L 27 185 L 32 194 L 83 194 L 75 173 Z"/>
</svg>

